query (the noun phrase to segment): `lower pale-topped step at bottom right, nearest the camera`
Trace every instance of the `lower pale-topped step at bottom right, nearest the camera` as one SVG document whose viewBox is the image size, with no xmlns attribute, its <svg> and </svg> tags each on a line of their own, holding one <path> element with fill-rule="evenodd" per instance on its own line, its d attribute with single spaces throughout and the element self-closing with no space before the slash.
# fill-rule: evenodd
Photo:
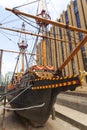
<svg viewBox="0 0 87 130">
<path fill-rule="evenodd" d="M 87 114 L 55 104 L 56 116 L 69 122 L 80 130 L 87 130 Z"/>
</svg>

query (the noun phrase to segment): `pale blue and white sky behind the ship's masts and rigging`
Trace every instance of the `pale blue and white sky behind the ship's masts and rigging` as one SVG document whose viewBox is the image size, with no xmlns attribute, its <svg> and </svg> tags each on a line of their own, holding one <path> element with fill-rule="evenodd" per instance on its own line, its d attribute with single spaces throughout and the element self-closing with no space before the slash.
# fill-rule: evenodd
<svg viewBox="0 0 87 130">
<path fill-rule="evenodd" d="M 0 0 L 0 26 L 20 29 L 22 25 L 22 20 L 15 16 L 12 12 L 5 10 L 5 8 L 14 8 L 23 4 L 27 4 L 37 0 Z M 56 20 L 60 17 L 60 14 L 67 9 L 67 5 L 70 4 L 71 0 L 47 0 L 46 6 L 47 10 L 51 16 L 52 20 Z M 18 8 L 23 12 L 27 12 L 35 15 L 37 11 L 37 3 L 32 3 L 22 8 Z M 27 23 L 25 23 L 25 28 Z M 29 25 L 27 26 L 27 30 L 33 30 Z M 10 31 L 5 31 L 0 29 L 0 49 L 4 50 L 15 50 L 18 51 L 17 43 L 20 42 L 20 34 Z M 25 36 L 23 36 L 25 37 Z M 32 39 L 32 43 L 31 43 Z M 30 44 L 31 43 L 31 44 Z M 33 47 L 34 38 L 31 36 L 27 36 L 27 44 L 28 50 Z M 12 53 L 3 53 L 3 61 L 2 61 L 2 74 L 5 75 L 9 70 L 13 71 L 15 67 L 15 63 L 17 60 L 17 54 Z"/>
</svg>

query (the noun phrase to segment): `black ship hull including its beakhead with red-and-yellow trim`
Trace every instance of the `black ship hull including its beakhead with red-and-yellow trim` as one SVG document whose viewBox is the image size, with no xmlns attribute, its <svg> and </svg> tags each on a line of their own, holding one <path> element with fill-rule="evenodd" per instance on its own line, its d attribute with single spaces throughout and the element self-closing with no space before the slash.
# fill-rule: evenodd
<svg viewBox="0 0 87 130">
<path fill-rule="evenodd" d="M 41 77 L 43 75 L 44 77 Z M 78 76 L 70 78 L 53 76 L 50 72 L 35 73 L 27 71 L 15 86 L 15 89 L 19 89 L 19 92 L 10 94 L 8 97 L 9 101 L 14 99 L 10 102 L 12 108 L 20 108 L 20 110 L 16 109 L 16 113 L 27 119 L 35 127 L 46 123 L 58 93 L 75 90 L 80 85 Z M 33 108 L 29 109 L 30 107 Z"/>
</svg>

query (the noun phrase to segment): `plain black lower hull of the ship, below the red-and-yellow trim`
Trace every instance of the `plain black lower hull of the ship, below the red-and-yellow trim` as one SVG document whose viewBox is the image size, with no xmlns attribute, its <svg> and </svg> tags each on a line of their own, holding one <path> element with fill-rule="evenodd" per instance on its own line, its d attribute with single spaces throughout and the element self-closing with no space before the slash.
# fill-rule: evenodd
<svg viewBox="0 0 87 130">
<path fill-rule="evenodd" d="M 28 108 L 35 106 L 31 109 L 17 110 L 16 113 L 27 119 L 33 126 L 42 126 L 46 123 L 51 114 L 58 91 L 58 89 L 44 89 L 35 91 L 28 89 L 16 98 L 11 103 L 11 106 L 12 108 Z M 14 98 L 16 95 L 10 95 L 9 100 Z M 39 107 L 39 105 L 42 106 Z"/>
</svg>

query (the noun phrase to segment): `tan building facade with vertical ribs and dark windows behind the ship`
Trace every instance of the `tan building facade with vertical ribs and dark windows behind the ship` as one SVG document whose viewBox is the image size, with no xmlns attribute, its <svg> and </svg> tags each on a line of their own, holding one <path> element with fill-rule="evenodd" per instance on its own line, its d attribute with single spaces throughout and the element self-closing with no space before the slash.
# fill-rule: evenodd
<svg viewBox="0 0 87 130">
<path fill-rule="evenodd" d="M 67 10 L 62 12 L 57 21 L 87 30 L 87 0 L 71 0 L 67 6 Z M 71 31 L 59 26 L 52 26 L 46 35 L 55 39 L 62 39 L 62 41 L 45 39 L 47 65 L 53 65 L 55 69 L 64 63 L 79 42 L 85 37 L 85 34 L 81 32 Z M 42 52 L 41 41 L 37 45 L 37 64 L 43 64 Z M 79 74 L 80 71 L 84 70 L 87 71 L 87 43 L 65 66 L 63 74 L 71 76 L 73 74 Z"/>
</svg>

